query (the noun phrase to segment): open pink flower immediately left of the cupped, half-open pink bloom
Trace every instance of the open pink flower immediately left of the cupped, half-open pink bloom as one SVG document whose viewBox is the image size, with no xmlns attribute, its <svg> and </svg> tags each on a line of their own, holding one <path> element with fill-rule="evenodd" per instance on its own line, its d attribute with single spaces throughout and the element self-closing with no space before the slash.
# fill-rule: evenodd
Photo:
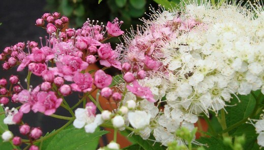
<svg viewBox="0 0 264 150">
<path fill-rule="evenodd" d="M 93 78 L 90 73 L 83 74 L 75 72 L 72 80 L 74 81 L 74 83 L 71 84 L 73 91 L 88 92 L 92 90 Z"/>
</svg>

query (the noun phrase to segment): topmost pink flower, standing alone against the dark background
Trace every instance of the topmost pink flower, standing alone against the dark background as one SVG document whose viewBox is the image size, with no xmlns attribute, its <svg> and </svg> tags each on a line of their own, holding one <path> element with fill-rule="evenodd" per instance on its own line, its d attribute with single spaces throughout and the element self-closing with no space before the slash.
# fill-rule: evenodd
<svg viewBox="0 0 264 150">
<path fill-rule="evenodd" d="M 123 34 L 124 31 L 120 29 L 120 26 L 122 23 L 123 21 L 120 21 L 120 23 L 118 22 L 118 18 L 115 18 L 112 23 L 108 21 L 106 25 L 106 30 L 107 30 L 108 35 L 119 36 Z"/>
</svg>

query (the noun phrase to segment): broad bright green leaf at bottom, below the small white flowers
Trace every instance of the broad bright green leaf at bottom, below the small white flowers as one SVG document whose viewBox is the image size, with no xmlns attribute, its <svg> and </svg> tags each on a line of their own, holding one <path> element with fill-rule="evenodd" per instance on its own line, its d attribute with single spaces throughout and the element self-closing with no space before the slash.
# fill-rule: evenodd
<svg viewBox="0 0 264 150">
<path fill-rule="evenodd" d="M 84 129 L 70 128 L 56 134 L 47 145 L 46 149 L 96 149 L 99 138 L 108 131 L 86 133 Z"/>
</svg>

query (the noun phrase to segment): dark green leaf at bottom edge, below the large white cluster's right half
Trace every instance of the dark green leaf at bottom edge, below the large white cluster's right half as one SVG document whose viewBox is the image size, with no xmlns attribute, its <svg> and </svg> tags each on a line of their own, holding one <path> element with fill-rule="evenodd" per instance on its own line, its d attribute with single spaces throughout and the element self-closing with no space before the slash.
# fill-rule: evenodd
<svg viewBox="0 0 264 150">
<path fill-rule="evenodd" d="M 200 137 L 199 139 L 196 139 L 196 141 L 202 143 L 202 144 L 207 144 L 208 147 L 205 147 L 206 149 L 209 150 L 231 150 L 229 146 L 224 145 L 223 141 L 220 138 L 215 138 L 215 137 Z"/>
</svg>

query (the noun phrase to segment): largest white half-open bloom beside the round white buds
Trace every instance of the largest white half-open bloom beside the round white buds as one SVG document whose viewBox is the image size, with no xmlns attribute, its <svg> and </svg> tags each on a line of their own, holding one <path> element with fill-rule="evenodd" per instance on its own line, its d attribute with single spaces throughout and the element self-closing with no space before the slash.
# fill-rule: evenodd
<svg viewBox="0 0 264 150">
<path fill-rule="evenodd" d="M 136 110 L 128 113 L 128 120 L 132 127 L 141 129 L 150 124 L 151 115 L 145 111 Z"/>
</svg>

